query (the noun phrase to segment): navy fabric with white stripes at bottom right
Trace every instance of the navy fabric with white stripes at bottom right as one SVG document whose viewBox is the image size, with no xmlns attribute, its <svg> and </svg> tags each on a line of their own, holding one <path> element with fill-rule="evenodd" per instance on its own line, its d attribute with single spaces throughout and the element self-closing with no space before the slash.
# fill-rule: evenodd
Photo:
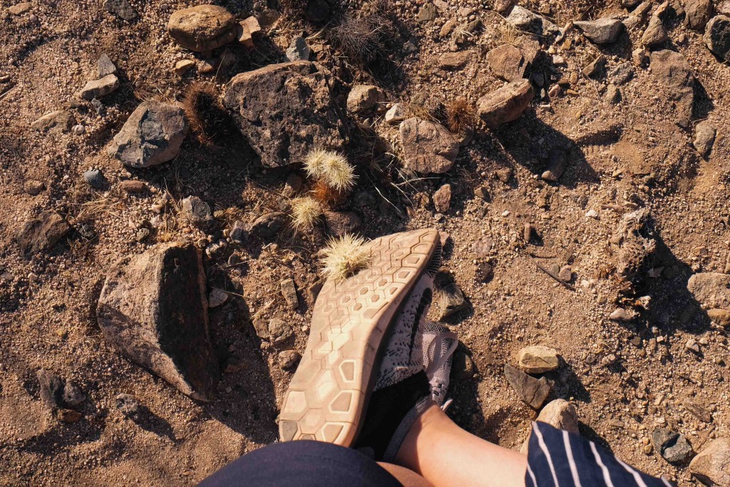
<svg viewBox="0 0 730 487">
<path fill-rule="evenodd" d="M 577 434 L 532 423 L 527 456 L 527 487 L 672 487 L 617 459 Z"/>
</svg>

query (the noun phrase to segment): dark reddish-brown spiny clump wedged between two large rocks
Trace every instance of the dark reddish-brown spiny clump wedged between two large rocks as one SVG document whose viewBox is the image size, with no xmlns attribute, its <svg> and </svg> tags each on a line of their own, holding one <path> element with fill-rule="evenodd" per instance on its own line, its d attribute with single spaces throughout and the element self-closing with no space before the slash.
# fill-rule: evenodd
<svg viewBox="0 0 730 487">
<path fill-rule="evenodd" d="M 218 88 L 212 83 L 196 81 L 189 85 L 183 98 L 183 110 L 201 144 L 230 131 L 228 113 L 220 104 Z"/>
</svg>

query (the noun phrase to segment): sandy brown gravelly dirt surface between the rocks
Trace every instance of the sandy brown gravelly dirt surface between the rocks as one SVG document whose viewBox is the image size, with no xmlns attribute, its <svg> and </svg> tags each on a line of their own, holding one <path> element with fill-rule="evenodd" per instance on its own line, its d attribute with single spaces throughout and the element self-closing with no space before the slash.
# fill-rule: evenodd
<svg viewBox="0 0 730 487">
<path fill-rule="evenodd" d="M 139 14 L 132 22 L 101 3 L 32 0 L 28 12 L 15 15 L 7 10 L 12 1 L 0 0 L 1 485 L 193 485 L 277 440 L 278 407 L 291 377 L 278 353 L 304 350 L 312 307 L 307 290 L 320 279 L 316 254 L 326 242 L 323 228 L 283 231 L 273 242 L 251 241 L 206 258 L 209 286 L 229 292 L 225 305 L 210 310 L 223 371 L 212 402 L 195 402 L 120 356 L 96 324 L 96 301 L 106 270 L 121 256 L 166 239 L 207 238 L 176 218 L 176 204 L 185 196 L 199 196 L 215 210 L 234 208 L 237 218 L 250 222 L 285 207 L 288 177 L 304 173 L 297 166 L 263 168 L 239 134 L 207 145 L 189 136 L 173 161 L 125 168 L 104 147 L 140 101 L 182 101 L 196 79 L 224 88 L 238 72 L 285 61 L 291 37 L 302 35 L 312 58 L 331 72 L 342 107 L 353 83 L 367 83 L 383 88 L 390 103 L 437 114 L 439 103 L 457 97 L 474 103 L 503 84 L 485 64 L 485 53 L 512 35 L 491 1 L 448 0 L 424 23 L 417 21 L 423 2 L 394 1 L 388 26 L 393 34 L 383 53 L 363 65 L 339 53 L 324 34 L 327 26 L 283 6 L 220 1 L 239 20 L 271 16 L 272 9 L 285 12 L 264 27 L 253 50 L 234 43 L 204 58 L 166 32 L 169 15 L 193 2 L 132 0 Z M 519 3 L 560 26 L 629 14 L 618 0 Z M 343 1 L 338 12 L 360 7 Z M 464 34 L 459 26 L 475 19 L 480 25 Z M 457 28 L 442 36 L 448 20 Z M 576 73 L 572 92 L 548 97 L 541 91 L 519 120 L 495 130 L 477 127 L 443 175 L 401 170 L 397 126 L 382 118 L 374 128 L 352 123 L 345 152 L 358 166 L 358 184 L 338 209 L 358 213 L 368 238 L 423 227 L 448 234 L 443 270 L 466 296 L 466 308 L 446 320 L 463 342 L 450 410 L 461 426 L 520 448 L 537 413 L 518 399 L 502 368 L 515 364 L 520 348 L 548 345 L 562 357 L 561 367 L 545 375 L 553 384 L 551 397 L 575 403 L 585 437 L 645 472 L 691 485 L 696 480 L 685 465 L 645 453 L 645 444 L 660 426 L 685 434 L 695 451 L 730 434 L 728 332 L 710 322 L 687 289 L 694 272 L 723 272 L 730 250 L 730 69 L 707 50 L 702 33 L 682 18 L 672 24 L 665 47 L 684 55 L 697 82 L 694 118 L 683 128 L 671 93 L 651 69 L 632 63 L 641 33 L 637 28 L 599 46 L 574 28 L 567 34 L 574 39 L 569 48 L 543 45 L 565 64 L 545 62 L 534 70 L 550 85 Z M 228 66 L 204 74 L 199 63 L 182 77 L 174 72 L 176 61 L 210 61 L 224 49 L 234 55 Z M 471 53 L 464 67 L 436 67 L 439 55 L 456 51 Z M 99 114 L 91 104 L 74 103 L 73 94 L 96 77 L 102 53 L 118 66 L 120 88 L 101 99 Z M 618 104 L 605 100 L 605 80 L 580 74 L 599 53 L 609 68 L 634 66 Z M 83 132 L 31 129 L 34 120 L 55 110 L 72 112 Z M 704 119 L 718 133 L 707 158 L 691 145 L 694 125 Z M 539 177 L 552 147 L 569 149 L 568 167 L 556 183 Z M 83 180 L 90 168 L 103 172 L 107 183 L 101 190 Z M 121 191 L 126 179 L 144 181 L 145 191 Z M 26 191 L 29 180 L 43 185 L 36 196 Z M 444 183 L 454 195 L 449 210 L 439 214 L 431 195 Z M 486 200 L 475 194 L 479 188 L 486 189 Z M 169 209 L 159 214 L 155 205 L 161 202 Z M 621 293 L 609 238 L 621 215 L 639 207 L 650 209 L 657 250 L 653 277 L 634 296 L 650 296 L 650 304 L 633 321 L 619 323 L 609 315 L 631 299 Z M 66 216 L 74 230 L 45 255 L 27 260 L 15 229 L 48 209 Z M 529 243 L 523 240 L 525 223 L 535 231 Z M 140 242 L 143 227 L 155 231 Z M 472 249 L 483 237 L 492 245 L 486 258 Z M 237 258 L 231 261 L 232 253 Z M 485 261 L 493 267 L 488 280 L 477 275 Z M 573 288 L 536 262 L 547 269 L 572 266 Z M 280 294 L 286 277 L 299 289 L 302 304 L 294 311 Z M 252 324 L 256 313 L 292 323 L 294 337 L 277 345 L 260 340 Z M 699 353 L 685 348 L 690 339 Z M 80 386 L 87 397 L 81 421 L 64 423 L 47 414 L 38 369 Z M 147 421 L 120 413 L 115 396 L 122 393 L 145 404 Z M 712 421 L 689 413 L 686 399 L 709 410 Z"/>
</svg>

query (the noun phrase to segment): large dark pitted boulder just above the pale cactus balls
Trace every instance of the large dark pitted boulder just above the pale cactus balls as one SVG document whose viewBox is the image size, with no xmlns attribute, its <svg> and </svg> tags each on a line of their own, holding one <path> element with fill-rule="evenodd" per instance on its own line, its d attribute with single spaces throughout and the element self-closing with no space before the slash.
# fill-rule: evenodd
<svg viewBox="0 0 730 487">
<path fill-rule="evenodd" d="M 301 162 L 312 147 L 342 146 L 326 77 L 310 61 L 237 74 L 223 104 L 265 166 Z"/>
</svg>

